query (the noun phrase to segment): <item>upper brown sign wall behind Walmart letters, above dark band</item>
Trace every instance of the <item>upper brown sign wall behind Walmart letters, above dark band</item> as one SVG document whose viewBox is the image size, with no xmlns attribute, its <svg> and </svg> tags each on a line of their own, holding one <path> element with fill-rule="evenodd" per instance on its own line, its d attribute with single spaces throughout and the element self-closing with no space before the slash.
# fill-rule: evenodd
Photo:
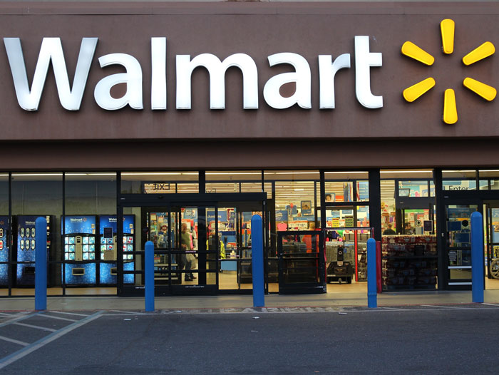
<svg viewBox="0 0 499 375">
<path fill-rule="evenodd" d="M 58 102 L 51 69 L 36 113 L 22 110 L 14 93 L 6 51 L 0 48 L 0 130 L 2 140 L 249 140 L 387 139 L 498 137 L 499 105 L 463 88 L 466 76 L 499 86 L 499 60 L 491 56 L 473 66 L 461 58 L 484 41 L 499 43 L 498 3 L 353 3 L 353 4 L 0 4 L 0 36 L 21 38 L 31 82 L 41 37 L 61 38 L 70 81 L 81 38 L 99 38 L 81 110 Z M 28 14 L 29 12 L 29 14 Z M 439 23 L 456 21 L 455 51 L 441 52 Z M 368 110 L 355 97 L 354 36 L 366 35 L 371 52 L 383 53 L 383 66 L 371 68 L 371 91 L 384 96 L 384 108 Z M 165 36 L 168 111 L 150 109 L 150 37 Z M 413 41 L 436 57 L 423 66 L 400 53 Z M 499 44 L 498 44 L 499 45 Z M 101 78 L 120 68 L 100 68 L 97 58 L 129 53 L 143 68 L 144 110 L 104 111 L 93 99 Z M 225 58 L 247 53 L 258 68 L 259 109 L 242 109 L 242 79 L 237 69 L 226 76 L 226 109 L 209 109 L 209 78 L 202 68 L 192 76 L 192 110 L 175 109 L 175 55 L 213 53 Z M 312 71 L 312 109 L 275 110 L 264 102 L 264 83 L 289 66 L 270 68 L 267 56 L 294 52 Z M 319 110 L 317 56 L 351 53 L 351 68 L 337 73 L 336 109 Z M 403 101 L 404 88 L 428 76 L 436 87 L 414 103 Z M 459 120 L 442 122 L 443 91 L 456 90 Z"/>
</svg>

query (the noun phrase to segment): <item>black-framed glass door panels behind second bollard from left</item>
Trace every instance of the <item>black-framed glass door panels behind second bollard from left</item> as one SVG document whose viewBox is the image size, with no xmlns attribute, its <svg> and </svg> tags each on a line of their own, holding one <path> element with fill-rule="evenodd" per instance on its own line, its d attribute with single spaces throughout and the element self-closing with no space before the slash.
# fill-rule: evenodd
<svg viewBox="0 0 499 375">
<path fill-rule="evenodd" d="M 123 207 L 122 217 L 140 217 L 135 251 L 121 235 L 122 295 L 143 293 L 145 243 L 154 244 L 155 294 L 214 294 L 217 292 L 217 252 L 208 247 L 207 217 L 216 207 L 165 205 Z M 216 230 L 216 228 L 215 228 Z"/>
</svg>

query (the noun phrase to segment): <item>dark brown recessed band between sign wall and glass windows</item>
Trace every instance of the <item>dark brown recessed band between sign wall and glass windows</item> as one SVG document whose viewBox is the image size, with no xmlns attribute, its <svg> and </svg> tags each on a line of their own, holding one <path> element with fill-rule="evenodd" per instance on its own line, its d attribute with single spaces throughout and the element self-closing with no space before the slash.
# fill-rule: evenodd
<svg viewBox="0 0 499 375">
<path fill-rule="evenodd" d="M 497 168 L 488 140 L 4 143 L 0 170 Z"/>
</svg>

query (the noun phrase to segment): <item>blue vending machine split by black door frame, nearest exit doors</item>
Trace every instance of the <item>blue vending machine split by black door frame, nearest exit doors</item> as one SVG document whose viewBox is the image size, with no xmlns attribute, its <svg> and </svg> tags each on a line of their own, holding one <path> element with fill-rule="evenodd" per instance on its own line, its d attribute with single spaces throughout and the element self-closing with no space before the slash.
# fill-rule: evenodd
<svg viewBox="0 0 499 375">
<path fill-rule="evenodd" d="M 99 264 L 99 283 L 116 284 L 118 268 L 116 215 L 99 216 L 99 235 L 101 256 Z M 133 271 L 133 251 L 135 245 L 135 215 L 123 215 L 123 269 Z M 128 254 L 129 253 L 129 254 Z M 133 274 L 124 274 L 125 284 L 133 283 Z"/>
</svg>

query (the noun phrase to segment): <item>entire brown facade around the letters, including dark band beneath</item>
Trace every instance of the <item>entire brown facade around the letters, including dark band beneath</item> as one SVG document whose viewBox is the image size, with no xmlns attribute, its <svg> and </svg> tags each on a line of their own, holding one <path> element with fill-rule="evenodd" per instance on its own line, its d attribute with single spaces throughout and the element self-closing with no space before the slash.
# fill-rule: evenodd
<svg viewBox="0 0 499 375">
<path fill-rule="evenodd" d="M 6 50 L 0 46 L 0 170 L 143 170 L 197 168 L 493 167 L 499 164 L 499 104 L 462 86 L 470 76 L 499 86 L 499 60 L 464 66 L 461 58 L 484 41 L 499 46 L 499 3 L 0 3 L 0 36 L 21 38 L 31 83 L 43 36 L 61 38 L 70 82 L 82 37 L 99 38 L 81 110 L 58 101 L 52 68 L 37 112 L 16 101 Z M 439 23 L 456 21 L 454 53 L 441 51 Z M 371 68 L 371 91 L 384 108 L 356 101 L 354 36 L 369 36 L 383 66 Z M 150 109 L 150 38 L 167 41 L 168 110 Z M 433 66 L 400 52 L 413 41 Z M 129 53 L 143 69 L 143 111 L 104 111 L 93 98 L 103 77 L 98 57 Z M 267 56 L 298 53 L 312 72 L 312 109 L 276 110 L 262 91 L 290 66 Z M 175 56 L 247 53 L 258 68 L 259 109 L 242 109 L 242 76 L 226 74 L 225 110 L 209 109 L 209 76 L 192 74 L 192 109 L 175 109 Z M 319 110 L 317 56 L 351 54 L 336 74 L 336 109 Z M 404 88 L 432 76 L 436 87 L 413 103 Z M 443 91 L 454 88 L 459 120 L 442 121 Z M 14 141 L 14 142 L 13 142 Z"/>
</svg>

